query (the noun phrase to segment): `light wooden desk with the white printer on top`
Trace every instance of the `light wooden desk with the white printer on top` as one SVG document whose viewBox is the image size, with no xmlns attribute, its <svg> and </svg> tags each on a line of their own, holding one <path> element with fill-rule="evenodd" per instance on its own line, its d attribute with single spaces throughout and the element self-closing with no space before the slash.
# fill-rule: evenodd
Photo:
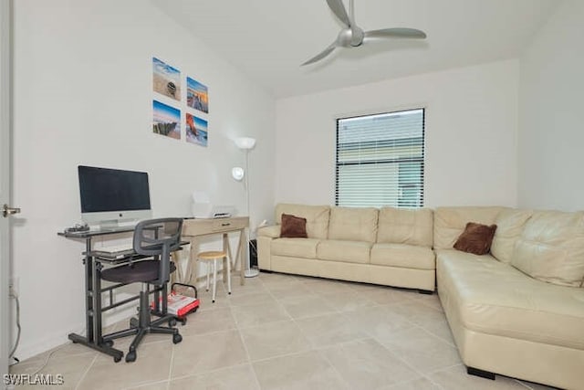
<svg viewBox="0 0 584 390">
<path fill-rule="evenodd" d="M 191 253 L 186 265 L 184 275 L 177 267 L 177 277 L 187 283 L 196 286 L 196 260 L 199 247 L 197 238 L 212 235 L 223 235 L 223 249 L 229 256 L 228 261 L 232 261 L 231 246 L 229 245 L 229 233 L 239 232 L 239 242 L 235 253 L 234 264 L 232 269 L 236 269 L 237 264 L 240 268 L 241 285 L 245 284 L 245 266 L 247 265 L 247 235 L 245 229 L 249 227 L 249 217 L 235 216 L 233 218 L 194 218 L 183 221 L 183 239 L 191 242 Z M 226 278 L 226 269 L 224 268 L 224 280 Z"/>
</svg>

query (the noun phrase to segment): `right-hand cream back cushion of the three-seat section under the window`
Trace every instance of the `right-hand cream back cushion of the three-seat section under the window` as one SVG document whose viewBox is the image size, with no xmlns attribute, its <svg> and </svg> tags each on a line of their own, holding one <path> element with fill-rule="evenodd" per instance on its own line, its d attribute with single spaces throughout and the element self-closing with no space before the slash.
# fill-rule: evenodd
<svg viewBox="0 0 584 390">
<path fill-rule="evenodd" d="M 430 208 L 383 207 L 380 210 L 377 242 L 432 248 L 433 225 L 433 211 Z"/>
</svg>

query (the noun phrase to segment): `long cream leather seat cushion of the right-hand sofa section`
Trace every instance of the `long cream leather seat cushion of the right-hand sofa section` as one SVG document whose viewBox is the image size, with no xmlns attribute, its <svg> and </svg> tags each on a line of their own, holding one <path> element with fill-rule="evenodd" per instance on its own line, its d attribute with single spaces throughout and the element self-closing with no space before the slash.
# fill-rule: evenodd
<svg viewBox="0 0 584 390">
<path fill-rule="evenodd" d="M 464 328 L 584 349 L 584 289 L 532 279 L 490 255 L 440 250 L 438 290 Z"/>
</svg>

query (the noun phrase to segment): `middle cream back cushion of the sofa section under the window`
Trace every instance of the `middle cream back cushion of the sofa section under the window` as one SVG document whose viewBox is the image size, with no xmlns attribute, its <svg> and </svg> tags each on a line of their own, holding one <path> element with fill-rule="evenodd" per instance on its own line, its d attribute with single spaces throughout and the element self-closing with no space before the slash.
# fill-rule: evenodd
<svg viewBox="0 0 584 390">
<path fill-rule="evenodd" d="M 331 207 L 328 239 L 373 243 L 377 237 L 379 211 L 372 207 Z"/>
</svg>

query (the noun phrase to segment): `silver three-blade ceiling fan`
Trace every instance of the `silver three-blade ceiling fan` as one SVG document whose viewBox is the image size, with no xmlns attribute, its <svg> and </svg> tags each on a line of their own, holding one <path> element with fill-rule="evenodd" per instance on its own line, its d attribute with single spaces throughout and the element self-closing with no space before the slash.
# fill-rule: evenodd
<svg viewBox="0 0 584 390">
<path fill-rule="evenodd" d="M 349 14 L 343 5 L 342 0 L 327 0 L 328 7 L 330 10 L 339 17 L 339 20 L 345 25 L 345 27 L 340 30 L 339 36 L 333 43 L 331 43 L 322 52 L 318 53 L 313 58 L 308 59 L 301 66 L 312 64 L 319 61 L 322 58 L 327 57 L 336 47 L 360 47 L 364 43 L 369 42 L 372 39 L 378 38 L 414 38 L 414 39 L 424 39 L 426 33 L 415 28 L 383 28 L 381 30 L 371 30 L 363 31 L 359 26 L 355 24 L 355 16 L 353 9 L 353 0 L 349 0 Z M 349 16 L 350 15 L 350 16 Z"/>
</svg>

